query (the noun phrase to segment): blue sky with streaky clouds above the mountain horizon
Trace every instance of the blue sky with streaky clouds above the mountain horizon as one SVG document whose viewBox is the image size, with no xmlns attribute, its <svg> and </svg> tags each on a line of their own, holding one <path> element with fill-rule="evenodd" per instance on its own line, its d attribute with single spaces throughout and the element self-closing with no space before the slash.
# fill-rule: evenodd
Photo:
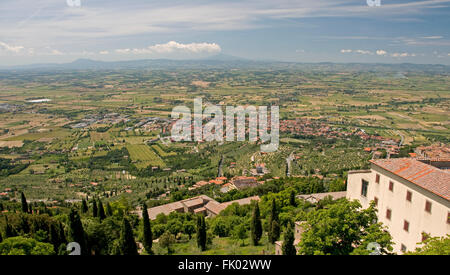
<svg viewBox="0 0 450 275">
<path fill-rule="evenodd" d="M 450 0 L 0 0 L 0 66 L 216 54 L 450 65 Z"/>
</svg>

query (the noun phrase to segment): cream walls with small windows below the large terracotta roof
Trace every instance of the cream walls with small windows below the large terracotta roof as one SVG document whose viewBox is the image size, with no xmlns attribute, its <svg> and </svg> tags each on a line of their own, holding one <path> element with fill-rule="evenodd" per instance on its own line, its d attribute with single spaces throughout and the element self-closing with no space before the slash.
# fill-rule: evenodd
<svg viewBox="0 0 450 275">
<path fill-rule="evenodd" d="M 447 179 L 445 177 L 444 181 Z M 423 232 L 432 237 L 450 234 L 450 201 L 445 196 L 374 163 L 370 170 L 349 172 L 347 182 L 348 199 L 359 200 L 364 208 L 371 201 L 377 202 L 378 219 L 395 242 L 394 252 L 415 250 Z M 439 183 L 442 186 L 442 178 Z M 363 185 L 367 185 L 367 191 Z M 450 182 L 444 185 L 444 190 L 448 190 Z"/>
</svg>

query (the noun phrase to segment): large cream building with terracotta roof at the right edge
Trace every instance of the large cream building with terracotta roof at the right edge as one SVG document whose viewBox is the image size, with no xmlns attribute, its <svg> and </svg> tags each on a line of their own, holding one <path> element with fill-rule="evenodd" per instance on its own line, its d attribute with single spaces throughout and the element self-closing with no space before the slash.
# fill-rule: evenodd
<svg viewBox="0 0 450 275">
<path fill-rule="evenodd" d="M 350 171 L 347 198 L 364 208 L 374 201 L 394 252 L 415 250 L 423 234 L 450 234 L 450 173 L 412 158 L 371 160 L 370 170 Z"/>
</svg>

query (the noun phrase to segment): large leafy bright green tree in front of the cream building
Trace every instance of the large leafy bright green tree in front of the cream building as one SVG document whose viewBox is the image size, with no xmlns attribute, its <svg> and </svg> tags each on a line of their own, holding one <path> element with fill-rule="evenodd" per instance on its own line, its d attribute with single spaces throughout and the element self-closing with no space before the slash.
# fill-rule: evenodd
<svg viewBox="0 0 450 275">
<path fill-rule="evenodd" d="M 358 201 L 346 199 L 311 211 L 306 216 L 300 253 L 306 255 L 369 254 L 367 247 L 376 242 L 381 254 L 392 251 L 392 238 L 377 221 L 375 204 L 361 209 Z"/>
</svg>

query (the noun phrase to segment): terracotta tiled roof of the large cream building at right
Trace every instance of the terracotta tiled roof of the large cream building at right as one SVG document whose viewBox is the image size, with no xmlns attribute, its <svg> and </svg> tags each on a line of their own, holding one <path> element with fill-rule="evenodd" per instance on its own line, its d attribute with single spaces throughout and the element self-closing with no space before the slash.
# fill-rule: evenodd
<svg viewBox="0 0 450 275">
<path fill-rule="evenodd" d="M 371 163 L 450 200 L 450 173 L 411 158 L 377 159 Z"/>
</svg>

